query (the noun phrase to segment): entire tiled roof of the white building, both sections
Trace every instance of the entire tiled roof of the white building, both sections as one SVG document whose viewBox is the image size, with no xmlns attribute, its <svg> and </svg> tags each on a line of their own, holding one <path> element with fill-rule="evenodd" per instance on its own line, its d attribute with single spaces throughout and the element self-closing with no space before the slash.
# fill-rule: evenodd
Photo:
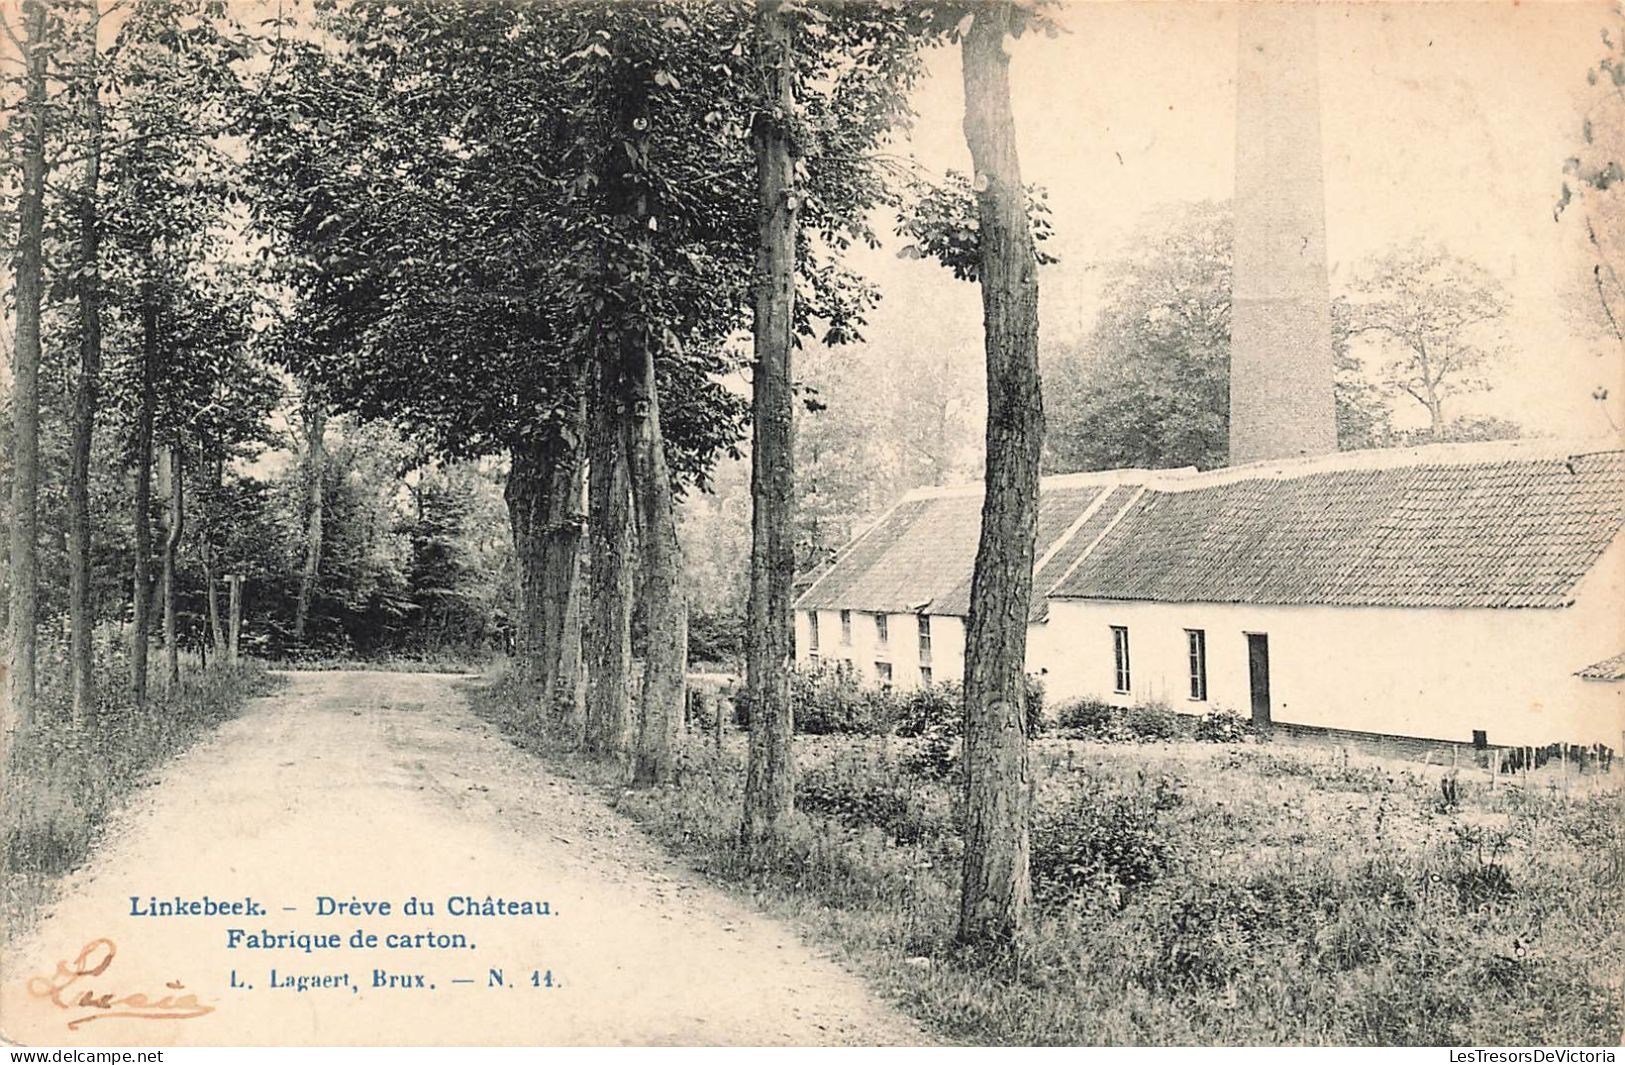
<svg viewBox="0 0 1625 1065">
<path fill-rule="evenodd" d="M 907 496 L 796 602 L 965 615 L 980 486 Z M 1209 473 L 1045 478 L 1032 619 L 1056 598 L 1565 606 L 1625 527 L 1617 446 L 1438 446 Z"/>
</svg>

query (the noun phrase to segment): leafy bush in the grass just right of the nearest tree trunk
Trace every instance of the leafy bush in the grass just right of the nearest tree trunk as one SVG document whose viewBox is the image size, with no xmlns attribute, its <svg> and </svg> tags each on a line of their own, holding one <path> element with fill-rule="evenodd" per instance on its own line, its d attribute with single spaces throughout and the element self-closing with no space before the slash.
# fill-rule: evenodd
<svg viewBox="0 0 1625 1065">
<path fill-rule="evenodd" d="M 1123 898 L 1168 872 L 1170 847 L 1146 795 L 1086 785 L 1032 831 L 1032 893 L 1046 906 Z"/>
</svg>

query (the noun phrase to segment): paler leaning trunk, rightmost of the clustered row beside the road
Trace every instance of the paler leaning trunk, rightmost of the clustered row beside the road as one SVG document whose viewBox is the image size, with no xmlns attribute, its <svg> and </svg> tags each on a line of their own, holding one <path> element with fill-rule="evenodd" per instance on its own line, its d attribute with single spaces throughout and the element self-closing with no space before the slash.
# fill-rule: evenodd
<svg viewBox="0 0 1625 1065">
<path fill-rule="evenodd" d="M 632 784 L 648 785 L 676 779 L 676 740 L 682 727 L 689 667 L 689 605 L 682 593 L 678 515 L 666 470 L 666 444 L 660 433 L 653 343 L 645 333 L 642 341 L 630 346 L 642 348 L 640 372 L 627 376 L 632 392 L 627 454 L 644 577 L 640 598 L 648 623 Z"/>
</svg>

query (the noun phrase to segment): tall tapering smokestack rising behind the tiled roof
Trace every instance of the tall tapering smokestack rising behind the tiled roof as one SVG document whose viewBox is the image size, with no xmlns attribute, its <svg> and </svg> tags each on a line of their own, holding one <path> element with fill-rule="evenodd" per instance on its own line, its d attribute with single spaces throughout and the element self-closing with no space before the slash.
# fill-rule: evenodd
<svg viewBox="0 0 1625 1065">
<path fill-rule="evenodd" d="M 1313 3 L 1242 3 L 1230 463 L 1337 450 Z"/>
</svg>

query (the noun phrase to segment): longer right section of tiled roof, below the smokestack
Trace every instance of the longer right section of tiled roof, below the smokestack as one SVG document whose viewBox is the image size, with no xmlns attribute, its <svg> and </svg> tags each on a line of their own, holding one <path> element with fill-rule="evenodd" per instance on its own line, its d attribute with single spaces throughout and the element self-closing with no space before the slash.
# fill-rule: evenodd
<svg viewBox="0 0 1625 1065">
<path fill-rule="evenodd" d="M 1328 457 L 1172 480 L 1149 488 L 1050 593 L 1337 606 L 1571 603 L 1625 525 L 1625 452 L 1472 454 L 1417 449 L 1409 462 Z"/>
</svg>

